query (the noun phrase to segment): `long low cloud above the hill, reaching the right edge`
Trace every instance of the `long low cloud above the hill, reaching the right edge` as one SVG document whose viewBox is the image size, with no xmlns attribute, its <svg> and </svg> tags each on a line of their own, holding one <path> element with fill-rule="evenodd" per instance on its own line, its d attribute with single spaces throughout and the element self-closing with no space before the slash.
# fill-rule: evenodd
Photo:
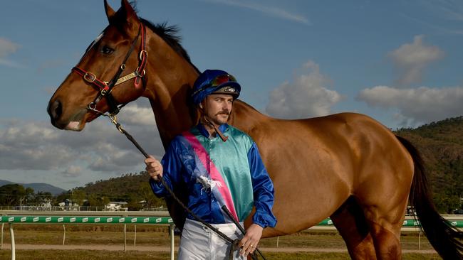
<svg viewBox="0 0 463 260">
<path fill-rule="evenodd" d="M 463 114 L 463 87 L 397 89 L 377 86 L 362 90 L 357 99 L 371 107 L 396 108 L 402 126 L 439 121 Z"/>
</svg>

